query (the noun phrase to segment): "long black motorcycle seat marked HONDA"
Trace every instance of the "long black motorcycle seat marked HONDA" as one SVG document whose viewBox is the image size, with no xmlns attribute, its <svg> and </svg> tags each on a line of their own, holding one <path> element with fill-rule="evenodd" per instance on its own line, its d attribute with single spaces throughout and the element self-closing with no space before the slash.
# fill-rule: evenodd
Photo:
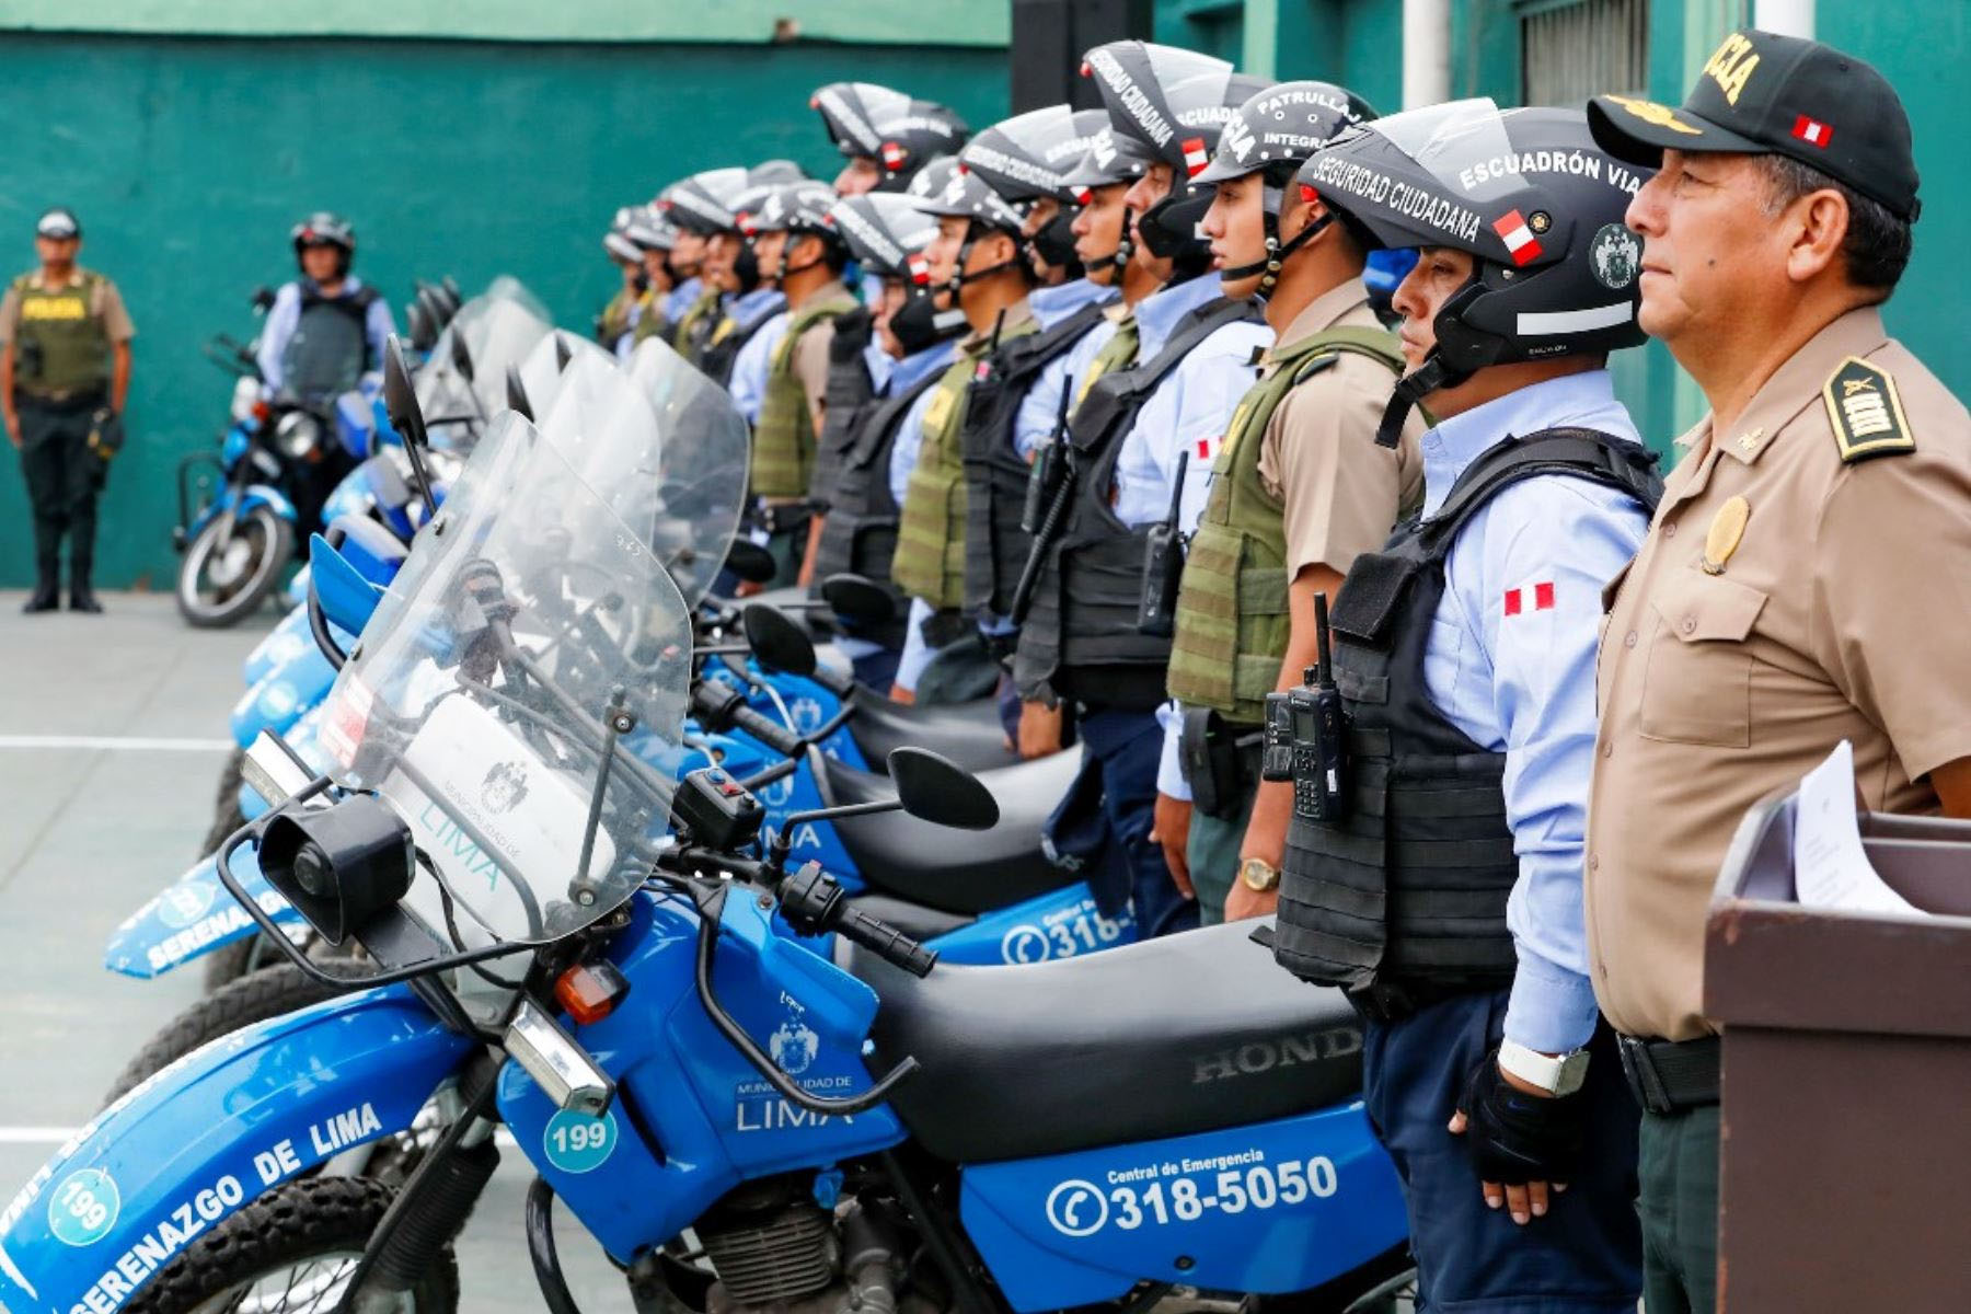
<svg viewBox="0 0 1971 1314">
<path fill-rule="evenodd" d="M 844 965 L 881 1007 L 869 1072 L 922 1070 L 889 1097 L 954 1164 L 1131 1145 L 1360 1097 L 1362 1022 L 1338 989 L 1295 979 L 1208 926 L 1027 967 L 938 963 L 913 977 L 863 950 Z"/>
</svg>

